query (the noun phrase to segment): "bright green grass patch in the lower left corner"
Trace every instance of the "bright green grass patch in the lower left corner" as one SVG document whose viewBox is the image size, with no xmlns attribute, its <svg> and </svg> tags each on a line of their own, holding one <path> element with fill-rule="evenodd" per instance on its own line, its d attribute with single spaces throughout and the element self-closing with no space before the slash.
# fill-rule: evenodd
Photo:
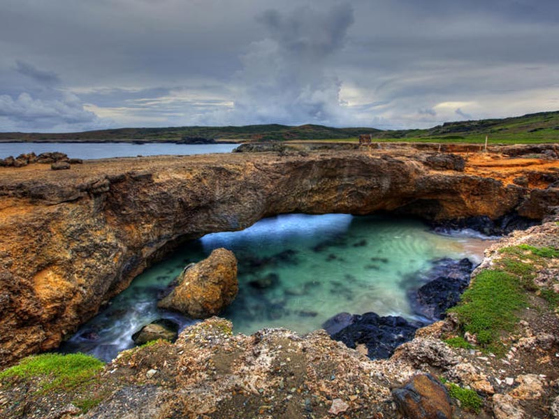
<svg viewBox="0 0 559 419">
<path fill-rule="evenodd" d="M 43 390 L 69 389 L 89 381 L 101 369 L 103 362 L 83 353 L 43 353 L 24 358 L 19 364 L 0 372 L 0 380 L 47 378 L 41 385 Z"/>
</svg>

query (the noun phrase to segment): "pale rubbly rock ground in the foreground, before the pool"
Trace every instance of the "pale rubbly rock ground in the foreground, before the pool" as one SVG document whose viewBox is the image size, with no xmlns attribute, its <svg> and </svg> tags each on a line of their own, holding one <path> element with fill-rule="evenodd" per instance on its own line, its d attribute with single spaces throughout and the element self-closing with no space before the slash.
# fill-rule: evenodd
<svg viewBox="0 0 559 419">
<path fill-rule="evenodd" d="M 3 377 L 0 413 L 6 418 L 557 418 L 558 306 L 545 304 L 542 295 L 559 287 L 558 237 L 559 218 L 518 231 L 488 249 L 473 274 L 475 284 L 482 272 L 509 260 L 511 249 L 556 249 L 538 260 L 545 266 L 535 271 L 535 287 L 527 291 L 517 326 L 500 336 L 500 354 L 456 345 L 465 335 L 455 315 L 419 329 L 391 358 L 374 361 L 321 330 L 305 337 L 281 329 L 233 335 L 230 322 L 214 317 L 184 330 L 175 344 L 156 341 L 124 351 L 77 388 L 45 393 L 41 388 L 52 378 Z M 528 257 L 518 253 L 517 261 Z M 84 405 L 87 409 L 78 407 Z"/>
</svg>

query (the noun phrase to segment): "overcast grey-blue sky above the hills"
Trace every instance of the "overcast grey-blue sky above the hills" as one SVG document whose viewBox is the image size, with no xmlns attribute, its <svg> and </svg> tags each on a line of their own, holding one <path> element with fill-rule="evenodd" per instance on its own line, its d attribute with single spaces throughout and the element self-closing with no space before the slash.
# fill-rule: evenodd
<svg viewBox="0 0 559 419">
<path fill-rule="evenodd" d="M 546 110 L 557 0 L 0 0 L 0 131 Z"/>
</svg>

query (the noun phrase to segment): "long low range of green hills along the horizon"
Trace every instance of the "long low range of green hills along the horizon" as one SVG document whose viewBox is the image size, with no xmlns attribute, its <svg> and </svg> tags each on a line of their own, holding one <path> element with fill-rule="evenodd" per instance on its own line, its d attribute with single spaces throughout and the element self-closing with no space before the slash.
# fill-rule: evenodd
<svg viewBox="0 0 559 419">
<path fill-rule="evenodd" d="M 376 128 L 332 128 L 322 125 L 177 126 L 119 128 L 82 133 L 0 133 L 0 142 L 184 142 L 208 140 L 355 140 L 371 134 L 377 141 L 559 142 L 559 111 L 523 117 L 447 122 L 428 129 L 382 131 Z"/>
</svg>

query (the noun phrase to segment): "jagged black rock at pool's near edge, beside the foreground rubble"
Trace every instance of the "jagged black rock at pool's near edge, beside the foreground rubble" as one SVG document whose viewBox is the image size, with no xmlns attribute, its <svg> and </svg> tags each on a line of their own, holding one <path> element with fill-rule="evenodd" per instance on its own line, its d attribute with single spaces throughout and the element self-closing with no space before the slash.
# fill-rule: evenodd
<svg viewBox="0 0 559 419">
<path fill-rule="evenodd" d="M 340 316 L 338 314 L 337 316 Z M 336 318 L 335 316 L 334 318 Z M 335 330 L 335 323 L 347 321 L 345 314 L 339 321 L 328 320 L 326 327 Z M 381 317 L 376 313 L 355 314 L 351 324 L 331 335 L 332 339 L 342 341 L 349 348 L 364 344 L 368 348 L 368 357 L 389 358 L 401 344 L 412 340 L 421 323 L 411 323 L 400 316 Z"/>
</svg>

